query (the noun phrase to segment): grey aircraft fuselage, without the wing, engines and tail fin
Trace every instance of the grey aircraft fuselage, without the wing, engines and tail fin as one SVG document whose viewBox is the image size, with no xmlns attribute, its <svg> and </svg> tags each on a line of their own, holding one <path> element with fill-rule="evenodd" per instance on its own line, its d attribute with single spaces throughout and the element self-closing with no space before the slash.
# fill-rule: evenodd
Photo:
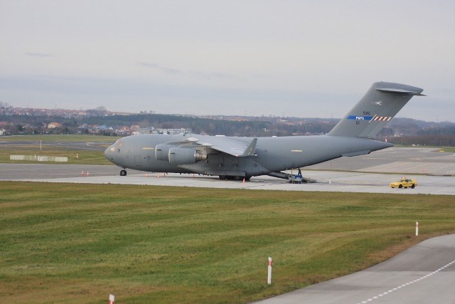
<svg viewBox="0 0 455 304">
<path fill-rule="evenodd" d="M 257 137 L 255 153 L 247 157 L 205 150 L 206 159 L 172 164 L 168 157 L 157 159 L 157 146 L 176 142 L 182 147 L 188 137 L 210 141 L 207 135 L 133 135 L 124 137 L 107 148 L 105 154 L 114 164 L 144 172 L 198 173 L 205 175 L 252 177 L 279 172 L 291 168 L 306 167 L 342 156 L 368 154 L 392 145 L 386 142 L 358 137 L 333 137 L 326 135 L 296 137 Z M 205 138 L 207 137 L 207 138 Z M 247 145 L 252 137 L 223 137 L 244 141 Z M 172 146 L 172 145 L 171 145 Z M 193 149 L 186 149 L 191 150 Z M 166 151 L 168 153 L 168 151 Z M 159 157 L 159 156 L 158 156 Z"/>
</svg>

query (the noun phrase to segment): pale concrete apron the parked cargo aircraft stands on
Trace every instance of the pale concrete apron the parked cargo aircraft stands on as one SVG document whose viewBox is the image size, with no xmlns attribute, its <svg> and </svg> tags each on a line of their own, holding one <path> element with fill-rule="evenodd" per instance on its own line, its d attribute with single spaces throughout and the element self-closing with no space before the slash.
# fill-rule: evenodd
<svg viewBox="0 0 455 304">
<path fill-rule="evenodd" d="M 119 167 L 64 164 L 0 164 L 0 180 L 144 184 L 174 187 L 262 189 L 303 192 L 361 192 L 455 195 L 455 157 L 434 148 L 390 148 L 360 157 L 342 157 L 303 169 L 316 183 L 289 184 L 284 179 L 260 176 L 250 182 L 220 181 L 198 174 L 164 174 Z M 391 189 L 400 177 L 417 179 L 415 189 Z"/>
</svg>

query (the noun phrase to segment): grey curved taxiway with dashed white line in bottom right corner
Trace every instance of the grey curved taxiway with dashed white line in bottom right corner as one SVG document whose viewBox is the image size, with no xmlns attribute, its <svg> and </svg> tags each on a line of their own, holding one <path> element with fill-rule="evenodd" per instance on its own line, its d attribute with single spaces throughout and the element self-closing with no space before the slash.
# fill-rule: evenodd
<svg viewBox="0 0 455 304">
<path fill-rule="evenodd" d="M 455 303 L 455 235 L 439 236 L 364 271 L 257 304 Z"/>
</svg>

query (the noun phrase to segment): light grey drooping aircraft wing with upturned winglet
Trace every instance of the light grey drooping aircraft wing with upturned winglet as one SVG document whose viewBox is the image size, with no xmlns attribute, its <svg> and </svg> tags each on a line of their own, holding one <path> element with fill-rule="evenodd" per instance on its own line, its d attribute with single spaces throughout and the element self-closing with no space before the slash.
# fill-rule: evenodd
<svg viewBox="0 0 455 304">
<path fill-rule="evenodd" d="M 198 136 L 190 137 L 188 141 L 196 142 L 197 145 L 210 147 L 211 149 L 218 150 L 227 154 L 231 154 L 235 157 L 250 156 L 255 152 L 257 138 L 252 140 L 248 139 L 248 142 L 243 140 L 237 140 L 232 137 L 218 137 L 218 136 Z"/>
</svg>

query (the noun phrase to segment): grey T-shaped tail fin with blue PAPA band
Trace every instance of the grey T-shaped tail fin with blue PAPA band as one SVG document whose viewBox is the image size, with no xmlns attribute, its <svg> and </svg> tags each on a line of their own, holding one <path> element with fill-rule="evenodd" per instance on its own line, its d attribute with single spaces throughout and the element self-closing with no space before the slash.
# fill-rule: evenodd
<svg viewBox="0 0 455 304">
<path fill-rule="evenodd" d="M 423 89 L 400 83 L 373 83 L 355 107 L 327 135 L 375 137 L 412 96 Z"/>
</svg>

